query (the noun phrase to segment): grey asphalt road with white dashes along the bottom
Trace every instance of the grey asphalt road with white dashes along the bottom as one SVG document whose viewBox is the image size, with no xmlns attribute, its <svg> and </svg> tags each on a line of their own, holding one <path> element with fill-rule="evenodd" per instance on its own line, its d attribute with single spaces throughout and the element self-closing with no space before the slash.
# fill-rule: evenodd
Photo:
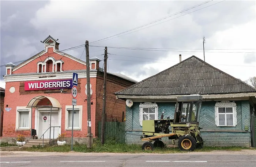
<svg viewBox="0 0 256 167">
<path fill-rule="evenodd" d="M 34 154 L 37 154 L 35 152 Z M 63 154 L 0 156 L 1 167 L 256 167 L 256 154 Z"/>
</svg>

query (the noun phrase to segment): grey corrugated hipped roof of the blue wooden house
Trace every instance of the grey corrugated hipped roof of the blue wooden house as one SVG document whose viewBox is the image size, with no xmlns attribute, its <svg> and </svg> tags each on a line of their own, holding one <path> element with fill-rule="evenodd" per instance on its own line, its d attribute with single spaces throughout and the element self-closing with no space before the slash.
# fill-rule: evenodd
<svg viewBox="0 0 256 167">
<path fill-rule="evenodd" d="M 185 95 L 256 92 L 243 81 L 213 67 L 196 56 L 148 77 L 117 95 Z"/>
</svg>

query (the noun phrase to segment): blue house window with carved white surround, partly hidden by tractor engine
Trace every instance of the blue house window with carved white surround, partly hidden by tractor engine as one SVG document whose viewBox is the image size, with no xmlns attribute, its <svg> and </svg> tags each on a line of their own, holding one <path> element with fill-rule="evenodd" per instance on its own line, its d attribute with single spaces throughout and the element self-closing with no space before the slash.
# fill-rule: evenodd
<svg viewBox="0 0 256 167">
<path fill-rule="evenodd" d="M 156 103 L 145 102 L 140 103 L 140 126 L 142 126 L 142 120 L 154 120 L 158 119 L 158 106 Z"/>
</svg>

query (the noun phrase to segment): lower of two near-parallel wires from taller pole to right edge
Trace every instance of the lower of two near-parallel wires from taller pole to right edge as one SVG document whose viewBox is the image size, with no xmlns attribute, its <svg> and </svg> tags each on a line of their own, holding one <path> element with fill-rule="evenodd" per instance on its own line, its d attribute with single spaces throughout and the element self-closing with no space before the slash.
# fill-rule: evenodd
<svg viewBox="0 0 256 167">
<path fill-rule="evenodd" d="M 101 47 L 101 46 L 91 46 L 91 47 Z M 129 50 L 140 50 L 140 51 L 163 51 L 163 52 L 203 52 L 203 51 L 173 51 L 173 50 L 160 50 L 160 49 L 136 49 L 136 48 L 119 48 L 119 47 L 109 47 L 113 49 L 129 49 Z M 211 51 L 205 51 L 209 53 L 256 53 L 256 52 L 211 52 Z"/>
</svg>

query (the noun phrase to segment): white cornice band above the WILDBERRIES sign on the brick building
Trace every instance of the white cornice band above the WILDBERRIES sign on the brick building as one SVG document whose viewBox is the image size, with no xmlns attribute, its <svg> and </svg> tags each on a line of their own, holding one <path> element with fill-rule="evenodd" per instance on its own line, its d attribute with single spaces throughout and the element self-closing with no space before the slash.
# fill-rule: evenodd
<svg viewBox="0 0 256 167">
<path fill-rule="evenodd" d="M 86 78 L 86 72 L 76 72 L 78 73 L 78 78 Z M 42 77 L 44 76 L 44 77 Z M 95 78 L 97 72 L 90 72 L 90 78 Z M 39 78 L 41 77 L 41 78 Z M 36 81 L 36 80 L 53 80 L 53 79 L 72 79 L 73 72 L 68 73 L 36 73 L 36 74 L 27 74 L 27 75 L 5 75 L 5 82 L 14 82 L 14 81 Z"/>
</svg>

